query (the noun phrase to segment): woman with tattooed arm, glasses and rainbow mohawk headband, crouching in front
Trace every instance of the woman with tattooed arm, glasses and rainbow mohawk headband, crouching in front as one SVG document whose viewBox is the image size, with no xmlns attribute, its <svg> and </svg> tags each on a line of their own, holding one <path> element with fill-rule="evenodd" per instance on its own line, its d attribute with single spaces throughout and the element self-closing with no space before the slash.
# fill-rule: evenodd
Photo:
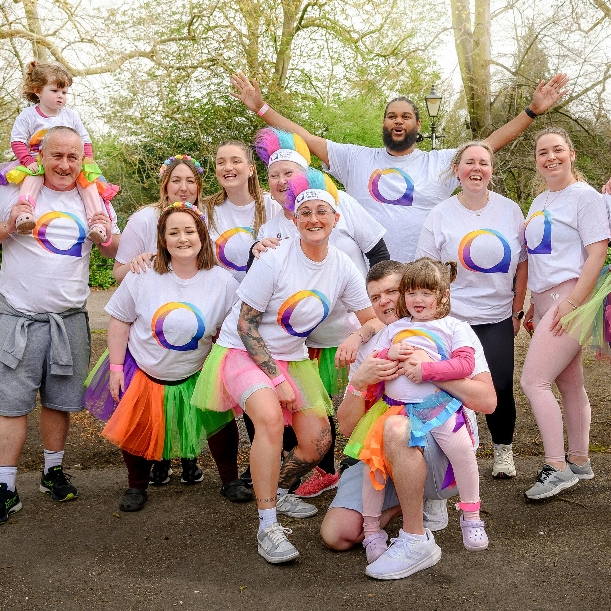
<svg viewBox="0 0 611 611">
<path fill-rule="evenodd" d="M 221 328 L 191 402 L 200 408 L 246 411 L 255 425 L 252 484 L 257 497 L 258 552 L 268 562 L 288 562 L 299 552 L 277 513 L 308 518 L 318 510 L 293 494 L 293 481 L 318 464 L 331 443 L 332 405 L 305 338 L 337 302 L 367 324 L 364 341 L 382 323 L 375 317 L 362 275 L 348 255 L 329 246 L 337 224 L 337 189 L 308 169 L 291 181 L 298 240 L 283 240 L 254 262 L 238 289 L 237 304 Z M 284 426 L 298 445 L 280 467 Z"/>
</svg>

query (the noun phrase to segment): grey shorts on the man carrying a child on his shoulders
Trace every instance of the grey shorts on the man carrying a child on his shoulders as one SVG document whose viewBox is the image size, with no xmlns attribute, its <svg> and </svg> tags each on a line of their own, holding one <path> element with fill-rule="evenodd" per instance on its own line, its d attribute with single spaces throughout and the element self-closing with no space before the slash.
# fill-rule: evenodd
<svg viewBox="0 0 611 611">
<path fill-rule="evenodd" d="M 23 416 L 36 406 L 40 389 L 40 402 L 45 408 L 63 412 L 78 412 L 84 408 L 83 383 L 89 371 L 91 334 L 86 312 L 62 319 L 72 353 L 72 375 L 51 375 L 51 325 L 32 322 L 27 327 L 27 343 L 20 363 L 11 369 L 0 363 L 2 398 L 0 415 Z M 5 338 L 0 337 L 0 345 Z"/>
</svg>

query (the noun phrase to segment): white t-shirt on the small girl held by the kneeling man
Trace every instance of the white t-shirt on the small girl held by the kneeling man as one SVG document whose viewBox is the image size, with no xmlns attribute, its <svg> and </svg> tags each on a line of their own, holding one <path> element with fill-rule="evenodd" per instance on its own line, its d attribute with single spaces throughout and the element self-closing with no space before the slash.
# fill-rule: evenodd
<svg viewBox="0 0 611 611">
<path fill-rule="evenodd" d="M 453 316 L 427 321 L 401 318 L 382 329 L 375 349 L 383 350 L 396 343 L 407 342 L 414 348 L 423 349 L 437 362 L 451 359 L 457 348 L 474 348 L 466 326 L 466 323 Z M 414 384 L 407 376 L 399 376 L 384 384 L 384 392 L 389 397 L 405 403 L 420 403 L 435 390 L 437 385 L 434 382 Z"/>
</svg>

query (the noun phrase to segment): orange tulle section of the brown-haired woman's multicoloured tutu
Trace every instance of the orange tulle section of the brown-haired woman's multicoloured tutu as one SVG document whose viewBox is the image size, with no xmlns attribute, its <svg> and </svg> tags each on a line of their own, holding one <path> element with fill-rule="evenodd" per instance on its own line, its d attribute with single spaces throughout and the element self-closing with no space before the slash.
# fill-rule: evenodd
<svg viewBox="0 0 611 611">
<path fill-rule="evenodd" d="M 161 460 L 166 430 L 163 395 L 161 384 L 137 370 L 102 436 L 130 454 Z"/>
</svg>

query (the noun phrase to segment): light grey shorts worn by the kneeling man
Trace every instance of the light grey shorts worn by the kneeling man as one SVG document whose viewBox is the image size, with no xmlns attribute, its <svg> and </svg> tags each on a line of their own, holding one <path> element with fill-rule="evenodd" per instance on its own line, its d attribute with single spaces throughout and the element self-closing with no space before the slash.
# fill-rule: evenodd
<svg viewBox="0 0 611 611">
<path fill-rule="evenodd" d="M 430 433 L 426 435 L 424 459 L 426 461 L 425 499 L 449 499 L 457 494 L 458 488 L 456 486 L 452 486 L 452 488 L 447 486 L 443 490 L 441 489 L 450 461 Z M 335 494 L 335 499 L 329 505 L 329 509 L 332 507 L 343 507 L 345 509 L 353 509 L 359 513 L 363 512 L 364 467 L 365 464 L 359 462 L 343 472 L 342 477 L 340 477 L 337 494 Z M 401 476 L 409 477 L 409 473 L 402 472 Z M 382 511 L 391 507 L 397 507 L 397 505 L 399 505 L 399 499 L 397 498 L 397 492 L 395 492 L 395 486 L 393 486 L 392 480 L 387 478 L 386 486 L 384 486 L 384 505 L 382 505 Z"/>
</svg>

